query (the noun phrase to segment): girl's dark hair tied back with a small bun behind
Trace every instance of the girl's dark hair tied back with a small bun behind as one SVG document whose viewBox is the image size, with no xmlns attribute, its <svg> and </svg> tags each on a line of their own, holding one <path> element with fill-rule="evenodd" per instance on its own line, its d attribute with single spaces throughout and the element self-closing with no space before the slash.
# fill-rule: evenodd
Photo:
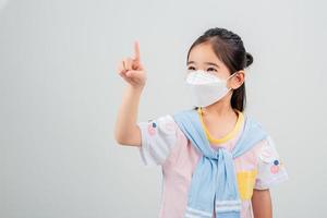
<svg viewBox="0 0 327 218">
<path fill-rule="evenodd" d="M 227 65 L 231 74 L 247 68 L 253 62 L 253 57 L 245 51 L 241 37 L 231 31 L 218 27 L 206 31 L 192 44 L 187 52 L 186 62 L 189 61 L 192 48 L 204 43 L 211 45 L 216 56 Z M 243 111 L 245 104 L 245 83 L 243 83 L 239 88 L 233 90 L 231 106 L 233 109 Z"/>
</svg>

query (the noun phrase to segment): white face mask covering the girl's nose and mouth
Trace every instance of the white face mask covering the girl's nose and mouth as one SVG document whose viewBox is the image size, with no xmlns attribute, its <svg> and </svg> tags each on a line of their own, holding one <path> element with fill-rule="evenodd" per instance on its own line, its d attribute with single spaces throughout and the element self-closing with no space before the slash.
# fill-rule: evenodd
<svg viewBox="0 0 327 218">
<path fill-rule="evenodd" d="M 217 75 L 203 70 L 190 72 L 185 82 L 191 92 L 194 106 L 206 107 L 223 98 L 232 89 L 227 87 L 227 81 L 235 73 L 227 80 L 221 80 Z"/>
</svg>

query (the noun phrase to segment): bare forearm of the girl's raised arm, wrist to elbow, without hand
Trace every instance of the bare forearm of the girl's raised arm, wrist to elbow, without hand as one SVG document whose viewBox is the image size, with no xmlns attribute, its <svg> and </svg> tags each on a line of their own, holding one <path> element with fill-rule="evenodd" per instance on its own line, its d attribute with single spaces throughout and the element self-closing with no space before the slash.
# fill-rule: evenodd
<svg viewBox="0 0 327 218">
<path fill-rule="evenodd" d="M 116 122 L 116 140 L 120 144 L 140 146 L 140 130 L 136 125 L 140 98 L 143 87 L 128 85 Z"/>
</svg>

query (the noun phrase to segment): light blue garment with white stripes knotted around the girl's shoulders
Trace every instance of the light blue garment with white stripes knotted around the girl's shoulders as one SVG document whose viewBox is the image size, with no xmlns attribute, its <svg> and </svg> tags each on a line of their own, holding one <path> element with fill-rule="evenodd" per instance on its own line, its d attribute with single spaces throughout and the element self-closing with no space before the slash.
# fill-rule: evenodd
<svg viewBox="0 0 327 218">
<path fill-rule="evenodd" d="M 240 218 L 241 199 L 233 159 L 251 149 L 267 134 L 257 122 L 246 117 L 243 133 L 233 150 L 228 152 L 223 147 L 215 150 L 204 133 L 196 110 L 178 112 L 173 119 L 202 154 L 189 187 L 185 218 L 211 218 L 214 206 L 218 218 Z"/>
</svg>

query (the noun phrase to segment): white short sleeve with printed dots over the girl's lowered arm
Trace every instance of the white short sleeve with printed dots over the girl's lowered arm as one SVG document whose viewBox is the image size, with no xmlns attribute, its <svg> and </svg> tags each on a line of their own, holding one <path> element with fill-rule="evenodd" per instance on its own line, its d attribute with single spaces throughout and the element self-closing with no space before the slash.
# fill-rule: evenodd
<svg viewBox="0 0 327 218">
<path fill-rule="evenodd" d="M 270 136 L 263 142 L 258 152 L 257 168 L 257 177 L 254 185 L 256 190 L 266 190 L 288 180 L 284 164 L 280 159 Z"/>
</svg>

